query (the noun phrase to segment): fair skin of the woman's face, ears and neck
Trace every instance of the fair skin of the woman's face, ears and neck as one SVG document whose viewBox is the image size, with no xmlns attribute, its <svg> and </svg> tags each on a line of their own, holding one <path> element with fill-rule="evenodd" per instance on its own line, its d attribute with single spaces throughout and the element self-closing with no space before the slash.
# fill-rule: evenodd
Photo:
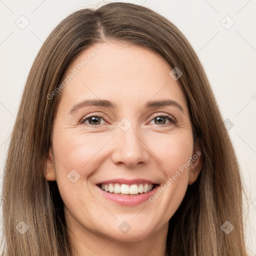
<svg viewBox="0 0 256 256">
<path fill-rule="evenodd" d="M 200 151 L 193 143 L 185 97 L 168 63 L 141 46 L 107 41 L 84 50 L 65 75 L 97 48 L 99 52 L 61 90 L 47 159 L 47 180 L 56 180 L 72 243 L 72 255 L 164 255 L 168 220 L 180 205 L 187 185 L 198 176 L 202 159 L 196 160 L 154 202 L 135 206 L 106 199 L 95 186 L 111 178 L 147 178 L 162 186 L 175 171 Z M 116 109 L 84 106 L 70 114 L 84 99 L 105 99 Z M 172 99 L 176 106 L 152 109 L 149 100 Z M 88 115 L 99 116 L 97 127 Z M 155 116 L 169 114 L 176 123 Z M 106 117 L 106 118 L 104 118 Z M 126 118 L 127 131 L 118 123 Z M 80 177 L 72 183 L 67 174 Z M 131 226 L 122 233 L 118 226 Z M 151 255 L 151 254 L 150 254 Z"/>
</svg>

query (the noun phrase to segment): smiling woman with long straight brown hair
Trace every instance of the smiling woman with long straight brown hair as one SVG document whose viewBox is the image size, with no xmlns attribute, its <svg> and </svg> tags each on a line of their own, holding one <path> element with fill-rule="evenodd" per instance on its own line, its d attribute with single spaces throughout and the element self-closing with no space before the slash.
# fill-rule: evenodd
<svg viewBox="0 0 256 256">
<path fill-rule="evenodd" d="M 115 2 L 57 25 L 26 81 L 2 207 L 8 256 L 246 255 L 234 149 L 170 21 Z"/>
</svg>

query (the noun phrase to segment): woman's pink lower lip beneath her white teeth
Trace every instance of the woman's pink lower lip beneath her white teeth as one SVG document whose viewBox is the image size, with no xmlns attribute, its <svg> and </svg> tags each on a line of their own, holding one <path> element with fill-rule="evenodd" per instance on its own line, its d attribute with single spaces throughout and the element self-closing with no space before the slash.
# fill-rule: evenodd
<svg viewBox="0 0 256 256">
<path fill-rule="evenodd" d="M 147 200 L 150 196 L 152 196 L 155 193 L 155 190 L 157 189 L 159 185 L 155 186 L 151 191 L 147 193 L 141 193 L 137 195 L 119 195 L 115 193 L 108 193 L 105 190 L 102 190 L 100 187 L 96 186 L 101 194 L 105 196 L 107 199 L 114 201 L 118 204 L 122 205 L 138 205 L 139 203 Z"/>
</svg>

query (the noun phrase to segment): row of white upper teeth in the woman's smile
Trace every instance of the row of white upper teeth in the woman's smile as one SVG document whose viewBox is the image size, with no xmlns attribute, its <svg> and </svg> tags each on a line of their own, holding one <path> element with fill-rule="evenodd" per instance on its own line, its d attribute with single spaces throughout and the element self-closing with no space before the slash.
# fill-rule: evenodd
<svg viewBox="0 0 256 256">
<path fill-rule="evenodd" d="M 148 183 L 141 183 L 139 185 L 137 184 L 118 184 L 118 183 L 107 183 L 107 184 L 101 184 L 101 189 L 105 190 L 109 193 L 115 193 L 115 194 L 138 194 L 138 193 L 146 193 L 151 191 L 153 188 L 153 184 Z"/>
</svg>

